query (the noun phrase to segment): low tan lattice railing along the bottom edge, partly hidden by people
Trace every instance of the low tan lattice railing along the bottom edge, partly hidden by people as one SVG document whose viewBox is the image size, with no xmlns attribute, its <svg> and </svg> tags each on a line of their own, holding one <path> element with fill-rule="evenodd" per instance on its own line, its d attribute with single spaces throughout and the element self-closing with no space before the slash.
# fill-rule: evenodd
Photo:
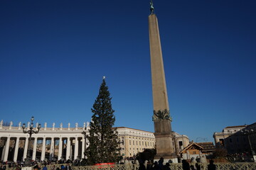
<svg viewBox="0 0 256 170">
<path fill-rule="evenodd" d="M 53 169 L 53 166 L 60 168 L 62 164 L 47 165 L 47 169 Z M 66 164 L 63 164 L 64 166 Z M 256 170 L 256 163 L 241 162 L 241 163 L 216 163 L 216 170 Z M 201 170 L 207 170 L 208 164 L 200 164 Z M 171 170 L 183 170 L 182 164 L 170 164 Z M 43 169 L 43 166 L 41 166 Z M 137 164 L 114 164 L 114 165 L 99 165 L 99 166 L 72 166 L 73 170 L 138 170 Z M 6 167 L 6 170 L 16 170 L 16 167 Z"/>
</svg>

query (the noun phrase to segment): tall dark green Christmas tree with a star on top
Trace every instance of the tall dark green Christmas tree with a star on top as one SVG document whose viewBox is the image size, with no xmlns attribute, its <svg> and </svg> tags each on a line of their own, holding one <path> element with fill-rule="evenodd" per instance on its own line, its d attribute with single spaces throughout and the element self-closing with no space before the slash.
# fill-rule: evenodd
<svg viewBox="0 0 256 170">
<path fill-rule="evenodd" d="M 90 165 L 117 162 L 118 159 L 117 131 L 112 128 L 115 117 L 111 99 L 110 91 L 103 78 L 99 95 L 92 106 L 92 121 L 89 135 L 86 136 L 90 144 L 85 154 Z"/>
</svg>

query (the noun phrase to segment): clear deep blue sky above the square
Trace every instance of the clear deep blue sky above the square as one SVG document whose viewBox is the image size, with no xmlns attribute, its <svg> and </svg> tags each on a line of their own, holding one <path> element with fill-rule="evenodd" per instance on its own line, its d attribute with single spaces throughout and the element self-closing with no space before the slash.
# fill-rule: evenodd
<svg viewBox="0 0 256 170">
<path fill-rule="evenodd" d="M 255 123 L 256 1 L 154 7 L 173 130 Z M 154 132 L 148 15 L 149 0 L 0 1 L 0 119 L 82 126 L 106 76 L 115 126 Z"/>
</svg>

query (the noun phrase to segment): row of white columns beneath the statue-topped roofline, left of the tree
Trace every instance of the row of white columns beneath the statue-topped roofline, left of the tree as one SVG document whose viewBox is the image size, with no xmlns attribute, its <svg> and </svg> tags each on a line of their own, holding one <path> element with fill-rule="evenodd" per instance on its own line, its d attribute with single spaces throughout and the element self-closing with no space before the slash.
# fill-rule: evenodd
<svg viewBox="0 0 256 170">
<path fill-rule="evenodd" d="M 36 135 L 35 135 L 36 136 Z M 61 158 L 65 159 L 77 159 L 84 158 L 84 152 L 86 149 L 85 135 L 80 134 L 79 136 L 68 136 L 68 137 L 47 137 L 42 134 L 36 137 L 0 137 L 3 141 L 4 146 L 1 147 L 1 161 L 14 161 L 16 162 L 26 159 L 28 152 L 32 153 L 32 160 L 45 160 L 46 154 L 49 154 L 47 159 L 53 160 Z M 10 146 L 10 142 L 12 145 Z M 22 142 L 24 141 L 24 142 Z M 56 145 L 58 144 L 58 145 Z M 58 151 L 58 152 L 57 152 Z M 64 152 L 65 151 L 65 152 Z M 23 152 L 23 153 L 22 153 Z M 37 153 L 40 153 L 38 155 Z M 55 154 L 56 152 L 56 154 Z M 57 154 L 58 153 L 58 154 Z"/>
</svg>

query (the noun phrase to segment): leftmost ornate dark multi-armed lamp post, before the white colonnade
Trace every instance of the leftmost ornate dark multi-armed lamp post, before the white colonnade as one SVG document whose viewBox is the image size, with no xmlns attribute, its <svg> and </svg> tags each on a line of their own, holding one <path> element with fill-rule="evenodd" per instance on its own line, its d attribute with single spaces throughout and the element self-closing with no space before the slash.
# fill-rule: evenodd
<svg viewBox="0 0 256 170">
<path fill-rule="evenodd" d="M 25 123 L 23 123 L 23 125 L 22 125 L 23 133 L 25 133 L 25 134 L 28 133 L 28 135 L 29 135 L 29 138 L 28 138 L 28 152 L 27 152 L 27 155 L 26 155 L 26 161 L 24 163 L 24 166 L 31 166 L 31 152 L 30 152 L 31 136 L 34 133 L 38 133 L 40 128 L 41 128 L 41 124 L 38 124 L 38 126 L 36 127 L 36 130 L 34 130 L 33 120 L 34 120 L 34 117 L 32 116 L 31 117 L 31 125 L 29 125 L 28 130 L 26 130 L 26 124 Z"/>
</svg>

